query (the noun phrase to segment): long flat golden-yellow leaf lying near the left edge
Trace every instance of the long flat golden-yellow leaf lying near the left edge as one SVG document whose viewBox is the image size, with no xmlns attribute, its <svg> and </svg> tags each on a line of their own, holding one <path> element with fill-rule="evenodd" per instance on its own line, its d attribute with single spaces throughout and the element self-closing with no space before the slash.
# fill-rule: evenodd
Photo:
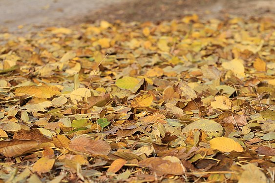
<svg viewBox="0 0 275 183">
<path fill-rule="evenodd" d="M 61 94 L 55 86 L 22 86 L 17 88 L 15 92 L 34 95 L 38 98 L 51 98 L 54 95 Z"/>
</svg>

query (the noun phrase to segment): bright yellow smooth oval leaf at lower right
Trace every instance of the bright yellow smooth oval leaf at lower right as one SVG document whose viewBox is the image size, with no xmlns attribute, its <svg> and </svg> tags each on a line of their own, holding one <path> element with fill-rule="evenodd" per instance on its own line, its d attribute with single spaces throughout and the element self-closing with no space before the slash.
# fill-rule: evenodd
<svg viewBox="0 0 275 183">
<path fill-rule="evenodd" d="M 216 137 L 209 143 L 212 149 L 217 149 L 221 152 L 243 152 L 243 147 L 238 142 L 227 137 Z"/>
</svg>

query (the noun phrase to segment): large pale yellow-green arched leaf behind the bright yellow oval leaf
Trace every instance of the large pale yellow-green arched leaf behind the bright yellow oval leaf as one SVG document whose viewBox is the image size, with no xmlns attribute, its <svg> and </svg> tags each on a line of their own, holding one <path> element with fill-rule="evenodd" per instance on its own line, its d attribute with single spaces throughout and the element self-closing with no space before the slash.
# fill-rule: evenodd
<svg viewBox="0 0 275 183">
<path fill-rule="evenodd" d="M 220 137 L 222 135 L 223 127 L 213 121 L 213 120 L 205 120 L 201 119 L 195 122 L 188 124 L 185 128 L 183 128 L 183 132 L 187 133 L 189 131 L 193 131 L 195 129 L 202 129 L 208 135 L 212 135 L 215 137 Z"/>
</svg>

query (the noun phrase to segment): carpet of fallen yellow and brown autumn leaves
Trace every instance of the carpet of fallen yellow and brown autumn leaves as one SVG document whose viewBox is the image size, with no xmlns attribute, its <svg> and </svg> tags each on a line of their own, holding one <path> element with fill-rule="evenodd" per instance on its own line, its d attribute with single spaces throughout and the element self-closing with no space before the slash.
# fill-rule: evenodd
<svg viewBox="0 0 275 183">
<path fill-rule="evenodd" d="M 274 20 L 0 39 L 0 183 L 274 181 Z"/>
</svg>

